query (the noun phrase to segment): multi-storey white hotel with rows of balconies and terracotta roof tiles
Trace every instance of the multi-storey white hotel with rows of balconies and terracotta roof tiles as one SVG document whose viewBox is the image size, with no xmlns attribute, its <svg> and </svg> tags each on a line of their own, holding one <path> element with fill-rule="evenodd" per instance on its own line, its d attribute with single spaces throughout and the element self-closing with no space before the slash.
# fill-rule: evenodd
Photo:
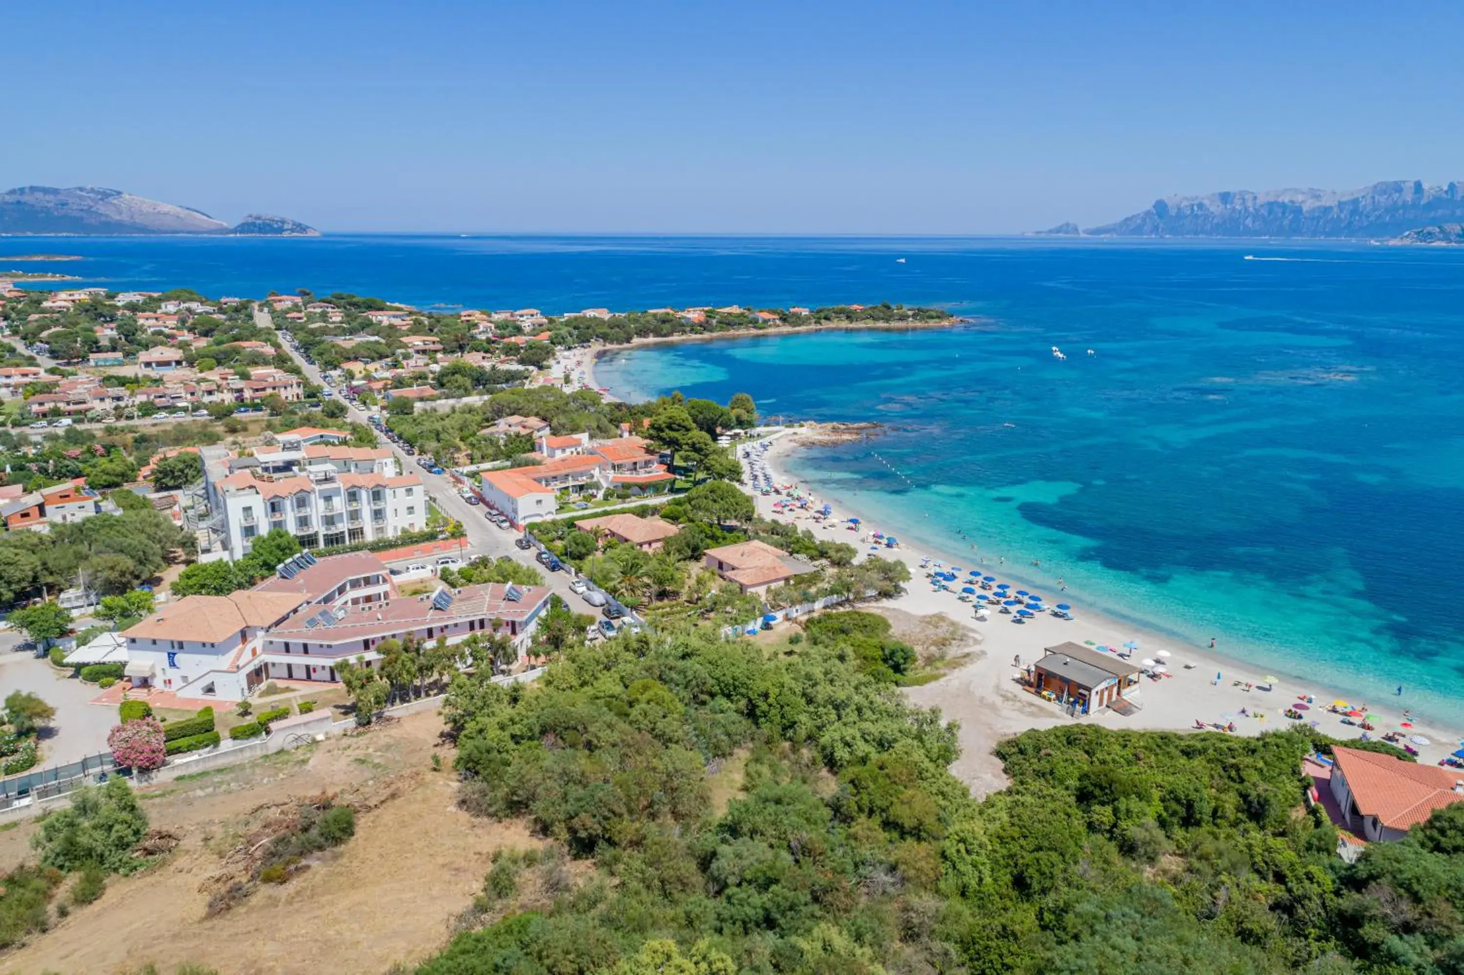
<svg viewBox="0 0 1464 975">
<path fill-rule="evenodd" d="M 307 549 L 426 528 L 422 479 L 401 474 L 389 449 L 344 447 L 338 442 L 344 436 L 310 427 L 291 430 L 253 457 L 205 448 L 211 527 L 228 558 L 243 558 L 256 537 L 274 528 L 284 528 Z M 337 442 L 326 442 L 331 439 Z"/>
</svg>

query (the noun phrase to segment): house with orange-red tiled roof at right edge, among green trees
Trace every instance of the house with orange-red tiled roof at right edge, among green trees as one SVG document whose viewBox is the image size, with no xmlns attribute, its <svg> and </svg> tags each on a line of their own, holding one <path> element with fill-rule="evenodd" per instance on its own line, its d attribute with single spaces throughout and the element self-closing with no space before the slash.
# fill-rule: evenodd
<svg viewBox="0 0 1464 975">
<path fill-rule="evenodd" d="M 1464 773 L 1357 748 L 1332 748 L 1332 796 L 1369 842 L 1400 840 L 1435 810 L 1464 801 Z"/>
</svg>

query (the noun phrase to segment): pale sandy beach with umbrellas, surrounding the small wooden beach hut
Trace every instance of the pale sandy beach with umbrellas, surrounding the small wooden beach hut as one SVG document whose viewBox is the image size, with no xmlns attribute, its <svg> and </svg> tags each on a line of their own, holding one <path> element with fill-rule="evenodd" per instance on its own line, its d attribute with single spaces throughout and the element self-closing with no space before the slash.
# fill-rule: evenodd
<svg viewBox="0 0 1464 975">
<path fill-rule="evenodd" d="M 807 439 L 808 433 L 801 430 L 774 435 L 772 447 L 760 460 L 776 485 L 796 483 L 795 479 L 786 476 L 782 460 Z M 805 493 L 808 493 L 807 489 Z M 851 509 L 834 496 L 815 496 L 818 501 L 815 509 L 827 502 L 833 507 L 833 517 L 820 523 L 811 514 L 799 512 L 799 515 L 792 517 L 793 524 L 811 528 L 818 537 L 854 543 L 861 549 L 861 558 L 864 558 L 868 553 L 871 533 L 880 530 L 878 518 L 870 520 L 864 512 Z M 788 515 L 774 514 L 773 502 L 779 501 L 777 495 L 769 498 L 755 495 L 755 501 L 761 515 L 780 521 L 789 520 Z M 861 518 L 859 530 L 849 530 L 846 520 L 851 517 Z M 944 561 L 946 565 L 963 565 L 965 569 L 978 568 L 969 556 L 962 559 L 960 555 L 956 555 L 959 548 L 959 545 L 953 545 L 952 550 L 944 553 L 922 552 L 909 546 L 881 550 L 881 558 L 903 559 L 911 567 L 912 578 L 906 584 L 905 594 L 874 603 L 874 608 L 886 606 L 918 616 L 943 613 L 974 631 L 971 646 L 956 649 L 952 653 L 952 656 L 966 653 L 969 654 L 968 660 L 940 681 L 909 688 L 906 694 L 915 704 L 938 707 L 947 719 L 960 722 L 962 755 L 952 766 L 952 773 L 968 783 L 978 796 L 1006 786 L 1001 763 L 991 754 L 996 742 L 1026 729 L 1086 722 L 1104 728 L 1198 731 L 1195 722 L 1199 719 L 1206 723 L 1233 720 L 1236 733 L 1259 735 L 1263 731 L 1291 725 L 1293 722 L 1282 711 L 1303 694 L 1316 698 L 1307 711 L 1307 719 L 1319 722 L 1319 731 L 1334 738 L 1359 738 L 1362 735 L 1357 726 L 1342 725 L 1338 714 L 1325 710 L 1334 700 L 1348 700 L 1359 706 L 1367 704 L 1366 710 L 1381 719 L 1375 722 L 1376 729 L 1370 732 L 1372 738 L 1379 738 L 1388 731 L 1403 731 L 1405 735 L 1422 735 L 1430 739 L 1429 745 L 1417 747 L 1422 763 L 1435 763 L 1446 757 L 1458 748 L 1461 741 L 1460 729 L 1426 719 L 1414 722 L 1411 729 L 1400 729 L 1403 714 L 1398 709 L 1388 707 L 1386 701 L 1354 701 L 1347 694 L 1335 692 L 1323 684 L 1301 681 L 1280 672 L 1271 672 L 1281 678 L 1274 690 L 1258 690 L 1256 685 L 1269 673 L 1173 637 L 1145 632 L 1132 624 L 1105 616 L 1098 609 L 1083 606 L 1051 587 L 1042 590 L 1047 605 L 1072 603 L 1073 621 L 1041 613 L 1032 621 L 1017 625 L 1012 622 L 1012 616 L 993 610 L 988 621 L 978 622 L 972 603 L 960 602 L 956 593 L 934 590 L 925 578 L 930 569 L 921 567 L 921 559 L 931 556 Z M 984 565 L 979 568 L 985 575 L 996 575 L 997 581 L 1012 583 L 1013 589 L 1026 589 L 1010 575 L 1004 575 L 1000 567 Z M 955 589 L 959 590 L 960 584 L 955 584 Z M 1171 676 L 1157 681 L 1148 676 L 1142 678 L 1139 694 L 1130 692 L 1132 700 L 1142 707 L 1127 717 L 1107 709 L 1089 716 L 1069 716 L 1060 706 L 1025 691 L 1017 681 L 1017 668 L 1013 666 L 1015 657 L 1020 660 L 1022 666 L 1026 666 L 1042 656 L 1044 647 L 1069 640 L 1079 644 L 1092 641 L 1110 647 L 1121 647 L 1127 641 L 1136 641 L 1139 649 L 1132 654 L 1130 662 L 1139 663 L 1146 657 L 1161 660 Z M 1167 659 L 1158 657 L 1161 650 L 1168 651 L 1170 656 Z M 1222 675 L 1218 682 L 1215 681 L 1217 673 Z M 1246 684 L 1250 684 L 1250 690 L 1246 688 Z M 1250 714 L 1241 714 L 1241 709 Z M 1256 711 L 1261 711 L 1261 716 L 1255 716 Z"/>
</svg>

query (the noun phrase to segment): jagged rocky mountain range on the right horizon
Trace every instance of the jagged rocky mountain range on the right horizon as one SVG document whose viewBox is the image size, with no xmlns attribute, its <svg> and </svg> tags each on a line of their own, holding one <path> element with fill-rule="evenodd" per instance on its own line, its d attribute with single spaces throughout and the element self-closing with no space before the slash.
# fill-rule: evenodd
<svg viewBox="0 0 1464 975">
<path fill-rule="evenodd" d="M 1464 184 L 1422 180 L 1373 183 L 1356 190 L 1227 190 L 1168 196 L 1113 224 L 1078 231 L 1063 224 L 1045 234 L 1091 237 L 1397 237 L 1410 230 L 1464 221 Z"/>
</svg>

